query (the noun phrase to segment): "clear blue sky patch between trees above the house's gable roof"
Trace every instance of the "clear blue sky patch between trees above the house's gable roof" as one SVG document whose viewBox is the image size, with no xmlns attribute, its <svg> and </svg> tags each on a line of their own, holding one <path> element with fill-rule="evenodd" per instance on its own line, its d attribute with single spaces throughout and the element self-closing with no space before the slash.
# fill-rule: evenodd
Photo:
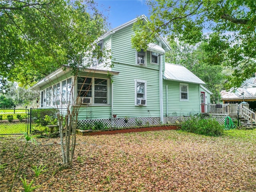
<svg viewBox="0 0 256 192">
<path fill-rule="evenodd" d="M 98 9 L 108 16 L 111 28 L 116 28 L 142 14 L 148 16 L 145 0 L 95 0 Z"/>
</svg>

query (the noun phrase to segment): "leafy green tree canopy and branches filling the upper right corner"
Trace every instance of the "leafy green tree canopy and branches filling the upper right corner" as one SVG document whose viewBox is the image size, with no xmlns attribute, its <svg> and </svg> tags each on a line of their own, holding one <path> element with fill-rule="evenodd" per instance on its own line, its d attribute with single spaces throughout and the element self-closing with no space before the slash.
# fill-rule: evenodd
<svg viewBox="0 0 256 192">
<path fill-rule="evenodd" d="M 136 35 L 132 42 L 136 49 L 146 49 L 155 36 L 167 36 L 170 41 L 190 45 L 210 39 L 207 45 L 212 53 L 208 58 L 212 60 L 210 64 L 225 64 L 234 70 L 229 86 L 239 86 L 256 72 L 256 1 L 149 0 L 147 3 L 149 22 L 139 21 L 134 27 Z M 218 38 L 209 35 L 212 32 Z"/>
</svg>

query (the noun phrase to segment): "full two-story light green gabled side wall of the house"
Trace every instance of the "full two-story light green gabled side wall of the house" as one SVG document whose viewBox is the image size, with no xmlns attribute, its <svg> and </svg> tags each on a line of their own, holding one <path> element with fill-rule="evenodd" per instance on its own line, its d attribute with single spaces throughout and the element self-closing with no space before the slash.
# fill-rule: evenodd
<svg viewBox="0 0 256 192">
<path fill-rule="evenodd" d="M 118 114 L 118 118 L 160 116 L 159 64 L 150 63 L 149 51 L 146 66 L 136 64 L 132 34 L 132 26 L 112 34 L 113 70 L 120 72 L 113 76 L 113 113 Z M 146 81 L 146 106 L 135 105 L 135 80 Z"/>
</svg>

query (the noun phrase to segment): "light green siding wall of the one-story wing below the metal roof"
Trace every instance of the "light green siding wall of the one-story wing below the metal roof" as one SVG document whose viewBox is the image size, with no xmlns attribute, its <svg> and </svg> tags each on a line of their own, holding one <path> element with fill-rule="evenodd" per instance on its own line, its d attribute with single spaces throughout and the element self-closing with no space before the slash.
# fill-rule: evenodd
<svg viewBox="0 0 256 192">
<path fill-rule="evenodd" d="M 166 85 L 168 86 L 168 101 L 166 100 Z M 188 83 L 188 101 L 180 101 L 180 82 L 163 80 L 163 103 L 164 116 L 198 114 L 200 113 L 199 85 Z"/>
</svg>

